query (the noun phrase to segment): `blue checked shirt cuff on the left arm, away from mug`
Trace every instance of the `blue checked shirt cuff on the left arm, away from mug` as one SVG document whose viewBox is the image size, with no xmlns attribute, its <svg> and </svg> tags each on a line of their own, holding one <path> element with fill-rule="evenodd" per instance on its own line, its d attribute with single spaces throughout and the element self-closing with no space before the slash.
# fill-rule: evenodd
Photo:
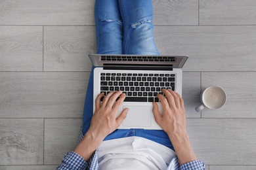
<svg viewBox="0 0 256 170">
<path fill-rule="evenodd" d="M 57 169 L 85 169 L 87 162 L 83 157 L 76 154 L 74 151 L 68 152 L 62 159 L 62 164 Z"/>
</svg>

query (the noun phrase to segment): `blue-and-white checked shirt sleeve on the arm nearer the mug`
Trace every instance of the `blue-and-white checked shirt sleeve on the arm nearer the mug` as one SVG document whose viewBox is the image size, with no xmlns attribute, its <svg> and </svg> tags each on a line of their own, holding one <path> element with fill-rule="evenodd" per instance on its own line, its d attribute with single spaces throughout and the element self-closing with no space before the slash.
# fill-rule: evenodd
<svg viewBox="0 0 256 170">
<path fill-rule="evenodd" d="M 205 169 L 205 164 L 200 160 L 190 161 L 188 163 L 184 163 L 183 165 L 179 165 L 179 160 L 177 156 L 171 160 L 171 163 L 167 167 L 167 170 L 203 170 Z"/>
</svg>

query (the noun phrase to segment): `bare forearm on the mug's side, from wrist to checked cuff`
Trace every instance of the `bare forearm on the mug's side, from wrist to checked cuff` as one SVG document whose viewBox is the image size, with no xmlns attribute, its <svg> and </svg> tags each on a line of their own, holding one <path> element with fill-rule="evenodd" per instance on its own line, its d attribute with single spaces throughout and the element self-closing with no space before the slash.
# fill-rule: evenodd
<svg viewBox="0 0 256 170">
<path fill-rule="evenodd" d="M 186 131 L 182 132 L 182 134 L 171 134 L 169 135 L 169 139 L 175 148 L 175 152 L 179 159 L 180 165 L 184 163 L 188 163 L 190 161 L 198 160 L 196 154 L 192 148 L 190 143 L 188 133 Z"/>
</svg>

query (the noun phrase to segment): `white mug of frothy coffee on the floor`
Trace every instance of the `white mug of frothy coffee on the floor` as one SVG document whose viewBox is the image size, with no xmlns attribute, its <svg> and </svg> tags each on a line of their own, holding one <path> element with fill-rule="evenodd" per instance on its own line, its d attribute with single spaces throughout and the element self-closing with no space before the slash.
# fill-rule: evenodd
<svg viewBox="0 0 256 170">
<path fill-rule="evenodd" d="M 201 94 L 201 103 L 196 107 L 200 112 L 203 108 L 220 109 L 226 103 L 226 93 L 218 86 L 209 86 Z"/>
</svg>

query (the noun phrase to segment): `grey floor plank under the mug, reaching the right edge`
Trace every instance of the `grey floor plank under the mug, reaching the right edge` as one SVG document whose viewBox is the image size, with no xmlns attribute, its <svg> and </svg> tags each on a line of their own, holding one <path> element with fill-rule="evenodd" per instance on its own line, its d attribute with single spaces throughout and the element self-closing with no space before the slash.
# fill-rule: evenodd
<svg viewBox="0 0 256 170">
<path fill-rule="evenodd" d="M 202 90 L 221 86 L 226 104 L 218 110 L 203 109 L 203 118 L 256 118 L 255 72 L 203 72 Z"/>
</svg>

